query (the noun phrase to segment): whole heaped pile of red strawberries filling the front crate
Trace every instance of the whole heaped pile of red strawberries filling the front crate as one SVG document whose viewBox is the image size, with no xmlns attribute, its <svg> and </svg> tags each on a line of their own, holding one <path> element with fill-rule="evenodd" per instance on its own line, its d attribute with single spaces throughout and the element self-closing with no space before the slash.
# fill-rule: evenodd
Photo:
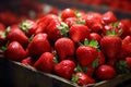
<svg viewBox="0 0 131 87">
<path fill-rule="evenodd" d="M 95 84 L 130 73 L 130 24 L 111 11 L 64 9 L 60 15 L 0 28 L 1 54 L 80 86 Z"/>
</svg>

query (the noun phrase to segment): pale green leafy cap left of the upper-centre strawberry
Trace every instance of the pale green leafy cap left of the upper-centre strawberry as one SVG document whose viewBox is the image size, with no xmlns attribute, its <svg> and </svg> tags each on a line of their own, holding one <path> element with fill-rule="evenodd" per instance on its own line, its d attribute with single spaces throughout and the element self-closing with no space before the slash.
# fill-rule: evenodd
<svg viewBox="0 0 131 87">
<path fill-rule="evenodd" d="M 61 22 L 61 26 L 57 26 L 58 29 L 61 30 L 61 35 L 68 36 L 69 33 L 69 26 L 64 22 Z"/>
</svg>

